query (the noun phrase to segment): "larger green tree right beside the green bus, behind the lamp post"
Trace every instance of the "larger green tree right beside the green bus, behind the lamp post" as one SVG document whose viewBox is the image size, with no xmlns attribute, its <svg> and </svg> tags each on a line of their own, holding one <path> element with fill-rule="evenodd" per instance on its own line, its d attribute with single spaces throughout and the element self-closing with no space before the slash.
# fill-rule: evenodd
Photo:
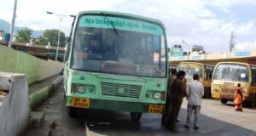
<svg viewBox="0 0 256 136">
<path fill-rule="evenodd" d="M 65 34 L 64 32 L 60 31 L 60 47 L 65 47 Z M 47 44 L 47 42 L 50 42 L 51 46 L 57 46 L 58 44 L 58 34 L 59 30 L 51 29 L 44 31 L 43 37 L 39 37 L 38 44 Z"/>
</svg>

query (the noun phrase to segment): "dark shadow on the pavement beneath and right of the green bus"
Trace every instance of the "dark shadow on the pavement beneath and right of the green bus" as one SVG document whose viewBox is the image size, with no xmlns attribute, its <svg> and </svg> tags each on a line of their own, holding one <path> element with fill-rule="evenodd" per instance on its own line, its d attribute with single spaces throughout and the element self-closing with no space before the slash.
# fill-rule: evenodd
<svg viewBox="0 0 256 136">
<path fill-rule="evenodd" d="M 201 115 L 200 129 L 183 127 L 186 111 L 181 110 L 180 121 L 177 123 L 179 133 L 172 133 L 160 124 L 160 115 L 144 114 L 141 122 L 130 122 L 130 115 L 126 112 L 82 110 L 74 119 L 87 127 L 87 135 L 207 135 L 207 136 L 255 136 L 254 131 L 229 122 L 223 122 L 209 116 Z M 89 133 L 89 134 L 88 134 Z"/>
</svg>

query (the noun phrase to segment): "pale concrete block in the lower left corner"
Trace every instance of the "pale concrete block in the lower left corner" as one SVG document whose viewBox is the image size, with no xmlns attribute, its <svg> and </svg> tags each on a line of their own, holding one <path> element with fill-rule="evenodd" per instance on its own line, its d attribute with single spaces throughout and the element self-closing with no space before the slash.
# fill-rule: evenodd
<svg viewBox="0 0 256 136">
<path fill-rule="evenodd" d="M 0 136 L 15 136 L 26 128 L 29 117 L 26 75 L 0 72 L 0 91 Z"/>
</svg>

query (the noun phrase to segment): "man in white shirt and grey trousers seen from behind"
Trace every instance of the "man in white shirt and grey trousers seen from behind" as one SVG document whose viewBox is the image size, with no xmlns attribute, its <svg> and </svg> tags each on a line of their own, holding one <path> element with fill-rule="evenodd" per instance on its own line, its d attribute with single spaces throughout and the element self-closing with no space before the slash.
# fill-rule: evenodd
<svg viewBox="0 0 256 136">
<path fill-rule="evenodd" d="M 190 126 L 190 118 L 192 115 L 192 112 L 194 111 L 195 115 L 195 121 L 194 121 L 194 129 L 197 130 L 199 127 L 197 127 L 197 116 L 200 113 L 201 110 L 201 98 L 204 96 L 204 87 L 199 82 L 199 76 L 198 74 L 194 74 L 193 76 L 194 81 L 189 82 L 189 87 L 187 88 L 187 98 L 188 98 L 188 107 L 187 107 L 187 122 L 184 127 L 189 128 Z"/>
</svg>

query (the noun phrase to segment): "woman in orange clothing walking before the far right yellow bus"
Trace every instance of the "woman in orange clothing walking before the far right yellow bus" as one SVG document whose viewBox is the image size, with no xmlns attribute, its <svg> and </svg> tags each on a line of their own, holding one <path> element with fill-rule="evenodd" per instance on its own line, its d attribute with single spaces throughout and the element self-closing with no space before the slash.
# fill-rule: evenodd
<svg viewBox="0 0 256 136">
<path fill-rule="evenodd" d="M 242 112 L 242 88 L 241 88 L 241 84 L 238 83 L 237 84 L 237 89 L 236 89 L 236 94 L 235 94 L 235 98 L 234 98 L 234 104 L 235 104 L 235 108 L 236 111 L 241 111 Z"/>
</svg>

